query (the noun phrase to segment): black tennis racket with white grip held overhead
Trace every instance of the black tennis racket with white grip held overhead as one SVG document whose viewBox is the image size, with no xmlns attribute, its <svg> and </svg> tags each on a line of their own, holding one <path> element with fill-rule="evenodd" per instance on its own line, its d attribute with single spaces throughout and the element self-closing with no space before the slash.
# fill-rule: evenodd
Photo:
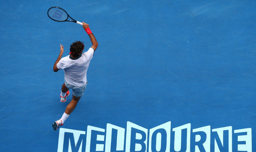
<svg viewBox="0 0 256 152">
<path fill-rule="evenodd" d="M 77 24 L 83 25 L 81 22 L 78 22 L 78 21 L 72 19 L 72 17 L 70 17 L 64 9 L 59 8 L 59 7 L 49 8 L 47 14 L 48 14 L 49 18 L 52 19 L 53 21 L 57 21 L 57 22 L 68 21 L 68 22 L 75 22 Z M 67 20 L 68 17 L 71 18 L 73 21 Z"/>
</svg>

